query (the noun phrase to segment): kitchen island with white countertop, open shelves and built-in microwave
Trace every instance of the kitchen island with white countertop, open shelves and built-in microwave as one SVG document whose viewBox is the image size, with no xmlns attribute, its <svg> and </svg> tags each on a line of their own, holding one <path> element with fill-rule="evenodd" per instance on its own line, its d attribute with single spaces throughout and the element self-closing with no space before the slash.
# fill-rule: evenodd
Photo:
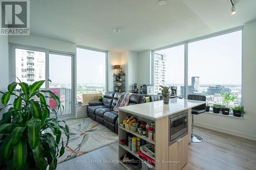
<svg viewBox="0 0 256 170">
<path fill-rule="evenodd" d="M 147 143 L 151 143 L 155 146 L 155 163 L 143 163 L 143 166 L 146 165 L 150 169 L 157 170 L 179 170 L 187 163 L 188 143 L 190 143 L 191 136 L 191 108 L 202 104 L 205 104 L 205 102 L 186 99 L 170 99 L 169 104 L 163 104 L 163 101 L 156 101 L 120 107 L 118 108 L 119 123 L 122 123 L 127 116 L 134 116 L 137 120 L 151 124 L 153 123 L 155 140 L 148 139 L 148 137 L 143 137 L 138 134 L 137 131 L 131 131 L 131 129 L 127 129 L 119 125 L 119 141 L 121 139 L 126 139 L 127 133 L 140 137 Z M 185 116 L 183 117 L 183 115 Z M 172 122 L 171 119 L 176 120 L 177 124 L 179 117 L 183 118 L 181 119 L 183 122 L 180 122 L 180 126 L 174 126 L 172 124 L 172 128 L 176 128 L 177 130 L 177 128 L 180 128 L 184 125 L 184 127 L 186 126 L 186 131 L 183 131 L 184 133 L 182 133 L 182 135 L 177 136 L 172 141 L 170 141 L 172 138 L 171 132 L 173 131 L 173 129 L 170 130 L 170 124 Z M 126 145 L 119 144 L 119 159 L 125 153 L 130 153 L 136 158 L 143 160 L 141 157 L 139 157 L 137 152 L 131 151 Z M 121 162 L 121 164 L 126 169 L 132 169 L 130 166 L 123 162 Z"/>
</svg>

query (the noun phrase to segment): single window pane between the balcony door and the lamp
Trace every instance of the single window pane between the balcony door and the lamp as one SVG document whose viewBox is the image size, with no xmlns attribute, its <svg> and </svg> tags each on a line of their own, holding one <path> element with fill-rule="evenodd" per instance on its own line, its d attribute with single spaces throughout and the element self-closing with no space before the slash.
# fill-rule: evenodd
<svg viewBox="0 0 256 170">
<path fill-rule="evenodd" d="M 106 53 L 77 48 L 77 102 L 82 94 L 106 90 Z"/>
</svg>

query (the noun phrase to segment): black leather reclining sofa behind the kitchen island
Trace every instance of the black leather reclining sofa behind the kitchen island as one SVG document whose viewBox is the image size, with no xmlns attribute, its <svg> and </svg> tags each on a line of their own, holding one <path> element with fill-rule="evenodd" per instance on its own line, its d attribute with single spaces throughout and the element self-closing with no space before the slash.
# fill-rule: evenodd
<svg viewBox="0 0 256 170">
<path fill-rule="evenodd" d="M 105 92 L 102 102 L 89 102 L 87 114 L 96 122 L 104 125 L 110 130 L 118 133 L 118 113 L 114 112 L 117 101 L 121 93 Z M 145 102 L 145 97 L 140 94 L 132 94 L 129 100 L 129 105 L 136 105 Z"/>
</svg>

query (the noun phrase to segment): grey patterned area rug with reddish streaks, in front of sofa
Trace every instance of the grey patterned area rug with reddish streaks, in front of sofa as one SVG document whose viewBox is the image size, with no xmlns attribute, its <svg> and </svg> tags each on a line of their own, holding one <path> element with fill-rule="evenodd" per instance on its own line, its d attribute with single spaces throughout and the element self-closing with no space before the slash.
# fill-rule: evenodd
<svg viewBox="0 0 256 170">
<path fill-rule="evenodd" d="M 58 158 L 58 163 L 118 141 L 116 133 L 89 117 L 66 120 L 66 123 L 69 126 L 70 139 L 65 153 Z M 65 138 L 65 142 L 66 140 L 67 138 Z"/>
</svg>

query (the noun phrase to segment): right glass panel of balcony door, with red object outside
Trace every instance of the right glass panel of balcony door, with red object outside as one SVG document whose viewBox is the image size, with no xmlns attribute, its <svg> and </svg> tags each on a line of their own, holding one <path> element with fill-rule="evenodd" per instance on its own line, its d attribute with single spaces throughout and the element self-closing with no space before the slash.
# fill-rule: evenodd
<svg viewBox="0 0 256 170">
<path fill-rule="evenodd" d="M 61 104 L 64 106 L 61 115 L 71 114 L 72 57 L 49 54 L 49 79 L 52 81 L 49 89 L 59 97 Z M 57 107 L 55 101 L 51 98 L 49 104 L 53 109 Z M 60 115 L 60 112 L 58 114 Z"/>
</svg>

